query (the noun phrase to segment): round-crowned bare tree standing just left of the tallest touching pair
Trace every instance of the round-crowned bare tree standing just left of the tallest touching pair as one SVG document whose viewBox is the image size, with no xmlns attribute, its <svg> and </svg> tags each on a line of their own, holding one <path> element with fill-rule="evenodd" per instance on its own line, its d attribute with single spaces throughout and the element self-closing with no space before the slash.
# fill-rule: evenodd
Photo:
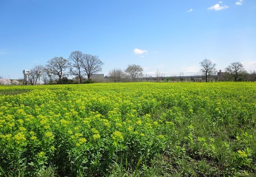
<svg viewBox="0 0 256 177">
<path fill-rule="evenodd" d="M 63 57 L 54 57 L 47 61 L 46 70 L 52 72 L 54 75 L 59 77 L 59 83 L 61 83 L 61 77 L 68 76 L 65 72 L 69 67 L 69 62 Z"/>
</svg>

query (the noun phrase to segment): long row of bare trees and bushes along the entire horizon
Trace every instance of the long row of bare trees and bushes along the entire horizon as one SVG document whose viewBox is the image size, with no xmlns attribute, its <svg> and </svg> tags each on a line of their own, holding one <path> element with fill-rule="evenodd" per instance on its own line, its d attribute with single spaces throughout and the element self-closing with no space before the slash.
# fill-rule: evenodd
<svg viewBox="0 0 256 177">
<path fill-rule="evenodd" d="M 186 81 L 256 81 L 256 71 L 247 72 L 240 62 L 230 63 L 225 68 L 224 73 L 220 73 L 216 77 L 216 64 L 210 59 L 205 58 L 199 63 L 201 66 L 203 78 L 187 78 Z M 36 65 L 30 69 L 28 78 L 20 81 L 0 79 L 0 85 L 36 85 L 39 82 L 38 71 L 41 73 L 41 81 L 44 84 L 73 84 L 73 83 L 92 83 L 91 77 L 102 70 L 104 63 L 97 55 L 84 54 L 80 51 L 71 52 L 68 59 L 63 57 L 53 57 L 47 61 L 46 65 Z M 74 76 L 69 79 L 69 76 Z M 143 68 L 140 65 L 128 65 L 125 70 L 114 68 L 109 71 L 105 77 L 105 82 L 137 82 L 137 81 L 185 81 L 182 77 L 162 77 L 162 74 L 157 69 L 156 77 L 148 79 L 143 77 Z M 103 80 L 100 80 L 103 82 Z"/>
</svg>

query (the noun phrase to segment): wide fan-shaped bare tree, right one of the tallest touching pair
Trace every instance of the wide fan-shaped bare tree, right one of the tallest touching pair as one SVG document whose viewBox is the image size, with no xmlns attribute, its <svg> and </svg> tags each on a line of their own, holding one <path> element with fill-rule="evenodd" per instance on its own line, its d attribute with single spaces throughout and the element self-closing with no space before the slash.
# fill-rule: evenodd
<svg viewBox="0 0 256 177">
<path fill-rule="evenodd" d="M 90 79 L 93 74 L 100 72 L 103 65 L 104 63 L 98 58 L 98 56 L 83 54 L 81 68 L 84 69 L 85 75 L 88 79 Z"/>
</svg>

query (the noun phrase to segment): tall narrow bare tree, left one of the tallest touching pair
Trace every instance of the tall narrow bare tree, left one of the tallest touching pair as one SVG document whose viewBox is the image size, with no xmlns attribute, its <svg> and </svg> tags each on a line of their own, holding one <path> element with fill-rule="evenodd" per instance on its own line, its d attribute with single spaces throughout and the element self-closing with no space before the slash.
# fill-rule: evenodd
<svg viewBox="0 0 256 177">
<path fill-rule="evenodd" d="M 83 78 L 82 59 L 83 53 L 80 51 L 71 52 L 69 55 L 69 72 L 71 75 L 77 76 L 80 83 L 82 83 Z"/>
</svg>

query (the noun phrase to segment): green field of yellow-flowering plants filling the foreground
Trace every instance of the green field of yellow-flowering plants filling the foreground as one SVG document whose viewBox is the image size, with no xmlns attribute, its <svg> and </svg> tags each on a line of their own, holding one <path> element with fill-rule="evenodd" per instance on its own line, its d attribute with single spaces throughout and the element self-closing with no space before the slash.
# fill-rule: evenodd
<svg viewBox="0 0 256 177">
<path fill-rule="evenodd" d="M 0 176 L 256 176 L 256 83 L 0 86 Z"/>
</svg>

